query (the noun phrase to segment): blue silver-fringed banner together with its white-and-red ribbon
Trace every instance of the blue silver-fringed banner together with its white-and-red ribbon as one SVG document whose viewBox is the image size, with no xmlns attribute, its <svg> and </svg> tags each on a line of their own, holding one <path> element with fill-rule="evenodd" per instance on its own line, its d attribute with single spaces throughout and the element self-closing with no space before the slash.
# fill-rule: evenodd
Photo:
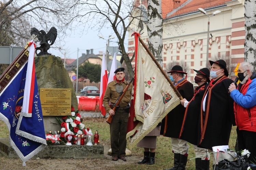
<svg viewBox="0 0 256 170">
<path fill-rule="evenodd" d="M 5 75 L 10 74 L 13 76 L 9 77 L 9 82 L 5 84 L 0 93 L 0 100 L 2 102 L 0 118 L 7 125 L 10 132 L 10 144 L 17 155 L 23 160 L 24 166 L 27 160 L 46 146 L 42 108 L 33 62 L 35 44 L 31 41 L 30 45 L 30 58 L 28 60 L 32 60 L 32 65 L 31 62 L 26 61 L 26 57 L 18 56 L 15 59 L 15 63 L 10 65 L 12 67 L 6 69 L 8 71 Z M 21 61 L 24 61 L 24 63 L 19 64 Z M 28 71 L 29 69 L 30 71 Z M 5 77 L 1 75 L 1 88 Z M 27 81 L 29 78 L 31 80 Z M 33 87 L 25 91 L 25 86 L 28 82 L 29 86 L 33 85 Z M 29 96 L 29 99 L 24 98 L 25 94 Z M 26 103 L 26 106 L 24 103 Z M 27 113 L 22 114 L 24 112 Z"/>
</svg>

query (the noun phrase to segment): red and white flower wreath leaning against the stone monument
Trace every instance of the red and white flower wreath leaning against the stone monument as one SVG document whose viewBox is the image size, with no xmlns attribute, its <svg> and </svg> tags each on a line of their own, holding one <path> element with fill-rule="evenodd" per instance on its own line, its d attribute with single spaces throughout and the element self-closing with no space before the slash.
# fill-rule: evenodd
<svg viewBox="0 0 256 170">
<path fill-rule="evenodd" d="M 56 117 L 58 122 L 61 125 L 61 133 L 60 133 L 60 139 L 65 142 L 70 142 L 75 144 L 76 140 L 75 138 L 78 135 L 84 135 L 86 136 L 88 133 L 88 128 L 85 129 L 85 125 L 82 123 L 83 119 L 81 118 L 81 115 L 78 111 L 74 112 L 74 107 L 71 106 L 71 114 L 68 116 L 63 116 L 62 120 L 63 122 Z M 73 138 L 73 139 L 72 139 Z M 68 139 L 68 141 L 67 141 Z"/>
</svg>

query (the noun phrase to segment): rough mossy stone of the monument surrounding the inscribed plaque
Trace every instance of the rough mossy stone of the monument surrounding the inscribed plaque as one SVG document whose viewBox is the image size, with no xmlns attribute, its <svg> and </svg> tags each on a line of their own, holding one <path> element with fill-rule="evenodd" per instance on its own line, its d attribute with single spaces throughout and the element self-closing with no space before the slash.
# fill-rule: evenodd
<svg viewBox="0 0 256 170">
<path fill-rule="evenodd" d="M 60 57 L 56 57 L 55 55 L 41 55 L 35 57 L 34 63 L 38 90 L 40 91 L 40 88 L 71 88 L 71 105 L 76 111 L 78 109 L 78 103 L 75 90 Z M 62 120 L 62 116 L 58 117 Z M 43 120 L 45 132 L 49 132 L 50 130 L 52 132 L 60 131 L 61 126 L 56 116 L 43 116 Z"/>
</svg>

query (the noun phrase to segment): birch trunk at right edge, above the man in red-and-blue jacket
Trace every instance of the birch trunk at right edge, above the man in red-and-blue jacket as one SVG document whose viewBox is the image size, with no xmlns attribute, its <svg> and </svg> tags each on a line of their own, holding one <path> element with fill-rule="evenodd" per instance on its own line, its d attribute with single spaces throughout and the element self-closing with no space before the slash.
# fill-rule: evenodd
<svg viewBox="0 0 256 170">
<path fill-rule="evenodd" d="M 245 18 L 245 43 L 244 43 L 244 61 L 256 68 L 256 0 L 245 0 L 244 2 Z"/>
</svg>

